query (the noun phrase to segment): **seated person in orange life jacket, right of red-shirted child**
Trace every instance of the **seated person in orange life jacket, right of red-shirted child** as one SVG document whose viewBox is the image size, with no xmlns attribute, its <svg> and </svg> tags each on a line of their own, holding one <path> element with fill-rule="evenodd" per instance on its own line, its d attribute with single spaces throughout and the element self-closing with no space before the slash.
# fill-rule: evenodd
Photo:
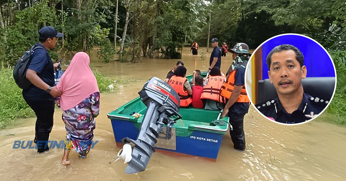
<svg viewBox="0 0 346 181">
<path fill-rule="evenodd" d="M 210 70 L 210 77 L 204 83 L 201 99 L 206 100 L 205 109 L 220 110 L 223 107 L 224 99 L 222 99 L 221 87 L 225 82 L 225 77 L 221 76 L 218 67 Z"/>
</svg>

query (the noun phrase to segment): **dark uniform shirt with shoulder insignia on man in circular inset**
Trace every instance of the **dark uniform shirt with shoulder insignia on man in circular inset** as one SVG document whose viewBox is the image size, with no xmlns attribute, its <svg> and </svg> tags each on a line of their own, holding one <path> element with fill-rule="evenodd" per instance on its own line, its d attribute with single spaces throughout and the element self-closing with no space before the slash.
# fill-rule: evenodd
<svg viewBox="0 0 346 181">
<path fill-rule="evenodd" d="M 328 105 L 329 99 L 312 97 L 303 93 L 303 100 L 297 110 L 291 114 L 286 112 L 282 107 L 279 98 L 267 100 L 255 105 L 256 108 L 266 117 L 269 117 L 276 122 L 295 124 L 310 120 L 321 113 Z"/>
</svg>

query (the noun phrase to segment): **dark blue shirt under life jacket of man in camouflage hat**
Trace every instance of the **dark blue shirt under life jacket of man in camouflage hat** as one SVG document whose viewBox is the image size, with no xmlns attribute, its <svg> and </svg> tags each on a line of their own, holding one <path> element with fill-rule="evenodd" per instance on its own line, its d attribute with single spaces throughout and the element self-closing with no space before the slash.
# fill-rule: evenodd
<svg viewBox="0 0 346 181">
<path fill-rule="evenodd" d="M 244 86 L 245 84 L 245 68 L 239 67 L 235 74 L 234 84 L 236 86 Z M 228 112 L 235 112 L 240 114 L 246 114 L 249 111 L 249 103 L 235 102 L 229 109 Z"/>
</svg>

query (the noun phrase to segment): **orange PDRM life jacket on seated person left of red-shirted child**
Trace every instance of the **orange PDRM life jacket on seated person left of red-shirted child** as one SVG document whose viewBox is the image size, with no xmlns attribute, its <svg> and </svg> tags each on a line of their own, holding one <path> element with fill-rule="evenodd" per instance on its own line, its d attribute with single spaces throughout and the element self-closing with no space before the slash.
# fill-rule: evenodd
<svg viewBox="0 0 346 181">
<path fill-rule="evenodd" d="M 172 76 L 168 84 L 178 93 L 180 98 L 180 107 L 187 107 L 192 103 L 192 98 L 189 97 L 187 91 L 184 90 L 184 83 L 188 81 L 186 77 Z"/>
</svg>

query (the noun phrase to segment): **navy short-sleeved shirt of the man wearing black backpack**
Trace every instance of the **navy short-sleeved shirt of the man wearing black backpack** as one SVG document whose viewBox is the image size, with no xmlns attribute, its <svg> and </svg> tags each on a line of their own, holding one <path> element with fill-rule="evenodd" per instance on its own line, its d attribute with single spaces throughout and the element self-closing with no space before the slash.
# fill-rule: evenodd
<svg viewBox="0 0 346 181">
<path fill-rule="evenodd" d="M 43 45 L 36 43 L 36 46 L 43 47 Z M 42 79 L 46 84 L 53 87 L 54 86 L 54 66 L 49 53 L 45 49 L 36 49 L 31 55 L 31 62 L 28 67 L 30 70 L 37 72 L 37 76 Z M 51 100 L 53 96 L 31 84 L 28 90 L 23 90 L 23 97 L 29 100 Z"/>
</svg>

